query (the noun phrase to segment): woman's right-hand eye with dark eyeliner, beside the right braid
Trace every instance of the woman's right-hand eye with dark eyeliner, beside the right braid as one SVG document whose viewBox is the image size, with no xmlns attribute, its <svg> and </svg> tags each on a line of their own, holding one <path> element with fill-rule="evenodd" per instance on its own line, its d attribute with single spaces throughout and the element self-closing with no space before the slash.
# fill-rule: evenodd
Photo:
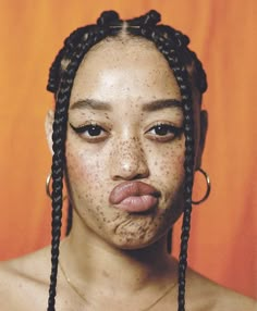
<svg viewBox="0 0 257 311">
<path fill-rule="evenodd" d="M 147 132 L 147 136 L 152 140 L 169 141 L 179 137 L 183 133 L 183 127 L 176 127 L 168 123 L 160 123 L 151 126 Z"/>
</svg>

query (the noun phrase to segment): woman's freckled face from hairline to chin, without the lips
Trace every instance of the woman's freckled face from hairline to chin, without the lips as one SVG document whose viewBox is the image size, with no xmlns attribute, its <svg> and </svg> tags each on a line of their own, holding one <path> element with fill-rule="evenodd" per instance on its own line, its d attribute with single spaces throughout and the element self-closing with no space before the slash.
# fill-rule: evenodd
<svg viewBox="0 0 257 311">
<path fill-rule="evenodd" d="M 144 39 L 102 41 L 77 71 L 66 139 L 70 196 L 83 224 L 110 244 L 147 246 L 181 213 L 180 101 L 167 61 Z M 133 181 L 160 191 L 157 207 L 146 214 L 119 210 L 109 201 L 117 185 Z"/>
</svg>

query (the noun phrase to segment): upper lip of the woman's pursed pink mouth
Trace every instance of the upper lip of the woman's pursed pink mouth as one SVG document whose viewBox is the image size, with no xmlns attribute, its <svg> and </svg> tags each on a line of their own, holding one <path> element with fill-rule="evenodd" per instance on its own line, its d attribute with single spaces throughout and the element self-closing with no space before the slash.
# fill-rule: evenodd
<svg viewBox="0 0 257 311">
<path fill-rule="evenodd" d="M 112 204 L 119 204 L 128 197 L 147 195 L 160 197 L 160 191 L 143 182 L 123 182 L 111 190 L 109 201 Z"/>
</svg>

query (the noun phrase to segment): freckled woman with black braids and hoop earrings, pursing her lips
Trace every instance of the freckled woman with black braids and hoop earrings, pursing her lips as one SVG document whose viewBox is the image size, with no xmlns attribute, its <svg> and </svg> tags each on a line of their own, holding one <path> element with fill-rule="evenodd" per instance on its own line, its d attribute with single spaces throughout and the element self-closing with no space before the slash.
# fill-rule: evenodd
<svg viewBox="0 0 257 311">
<path fill-rule="evenodd" d="M 156 11 L 125 22 L 103 12 L 57 55 L 48 84 L 56 111 L 46 120 L 51 259 L 46 248 L 2 263 L 1 310 L 46 310 L 49 273 L 48 310 L 256 307 L 186 273 L 193 177 L 204 172 L 207 83 L 188 38 L 159 21 Z M 60 244 L 63 177 L 73 223 Z M 167 236 L 182 213 L 178 263 Z"/>
</svg>

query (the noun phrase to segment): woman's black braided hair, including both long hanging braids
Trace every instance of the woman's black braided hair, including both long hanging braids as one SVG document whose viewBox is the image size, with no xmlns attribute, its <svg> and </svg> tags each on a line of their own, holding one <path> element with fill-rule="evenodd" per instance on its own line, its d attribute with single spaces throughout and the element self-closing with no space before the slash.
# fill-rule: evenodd
<svg viewBox="0 0 257 311">
<path fill-rule="evenodd" d="M 103 12 L 97 20 L 96 25 L 77 28 L 65 39 L 63 48 L 59 51 L 51 65 L 47 89 L 54 94 L 56 111 L 52 134 L 52 239 L 48 311 L 56 310 L 58 259 L 62 225 L 62 187 L 63 172 L 65 169 L 68 110 L 74 77 L 88 50 L 107 37 L 118 36 L 124 28 L 124 25 L 125 32 L 128 35 L 144 37 L 156 45 L 157 49 L 167 59 L 182 96 L 185 135 L 185 181 L 184 215 L 179 262 L 178 310 L 185 310 L 185 274 L 187 268 L 187 246 L 191 228 L 195 157 L 192 87 L 195 87 L 203 94 L 207 89 L 207 82 L 200 61 L 187 47 L 189 43 L 188 37 L 170 26 L 158 25 L 159 22 L 160 14 L 154 10 L 143 16 L 125 21 L 125 24 L 120 20 L 117 12 Z M 72 207 L 70 204 L 68 231 L 70 231 L 71 225 Z"/>
</svg>

